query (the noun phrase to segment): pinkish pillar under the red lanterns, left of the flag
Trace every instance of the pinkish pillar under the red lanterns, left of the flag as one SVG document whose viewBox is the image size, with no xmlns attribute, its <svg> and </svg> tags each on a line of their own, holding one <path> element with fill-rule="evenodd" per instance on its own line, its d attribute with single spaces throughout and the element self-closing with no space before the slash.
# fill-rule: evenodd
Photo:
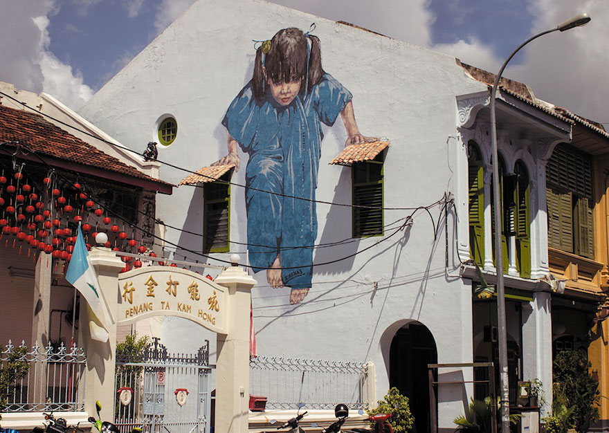
<svg viewBox="0 0 609 433">
<path fill-rule="evenodd" d="M 44 351 L 48 344 L 49 318 L 51 315 L 51 270 L 53 258 L 46 252 L 40 252 L 36 261 L 34 274 L 34 315 L 32 320 L 32 346 L 38 343 Z M 67 346 L 68 344 L 66 344 Z M 42 370 L 42 369 L 41 369 Z"/>
</svg>

